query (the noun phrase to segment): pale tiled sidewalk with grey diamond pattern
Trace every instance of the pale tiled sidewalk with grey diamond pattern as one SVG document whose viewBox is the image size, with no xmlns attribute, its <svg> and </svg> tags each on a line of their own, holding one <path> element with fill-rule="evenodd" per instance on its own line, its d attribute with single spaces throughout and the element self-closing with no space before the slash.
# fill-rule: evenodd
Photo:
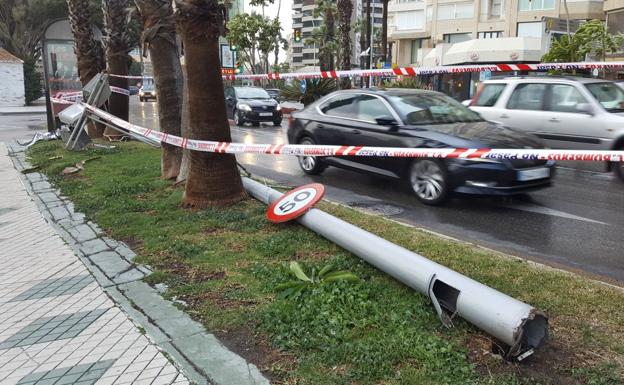
<svg viewBox="0 0 624 385">
<path fill-rule="evenodd" d="M 0 143 L 0 384 L 188 384 L 44 220 Z"/>
</svg>

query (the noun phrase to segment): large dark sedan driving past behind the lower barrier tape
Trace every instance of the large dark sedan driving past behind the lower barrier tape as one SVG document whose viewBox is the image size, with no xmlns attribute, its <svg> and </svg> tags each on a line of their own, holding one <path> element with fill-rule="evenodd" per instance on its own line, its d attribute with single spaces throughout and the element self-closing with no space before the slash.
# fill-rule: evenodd
<svg viewBox="0 0 624 385">
<path fill-rule="evenodd" d="M 432 91 L 337 91 L 293 114 L 288 141 L 410 148 L 543 148 L 539 138 L 489 123 L 450 97 Z M 440 204 L 451 193 L 507 195 L 549 186 L 553 161 L 299 157 L 308 174 L 327 166 L 400 178 L 416 197 Z"/>
</svg>

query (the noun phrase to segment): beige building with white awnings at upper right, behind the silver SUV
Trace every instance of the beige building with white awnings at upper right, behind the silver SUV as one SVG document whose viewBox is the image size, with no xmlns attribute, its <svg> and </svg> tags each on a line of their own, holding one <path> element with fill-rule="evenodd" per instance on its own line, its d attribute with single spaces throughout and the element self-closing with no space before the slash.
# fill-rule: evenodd
<svg viewBox="0 0 624 385">
<path fill-rule="evenodd" d="M 604 20 L 603 3 L 567 0 L 572 27 Z M 565 18 L 562 0 L 393 0 L 389 41 L 399 66 L 539 62 Z"/>
</svg>

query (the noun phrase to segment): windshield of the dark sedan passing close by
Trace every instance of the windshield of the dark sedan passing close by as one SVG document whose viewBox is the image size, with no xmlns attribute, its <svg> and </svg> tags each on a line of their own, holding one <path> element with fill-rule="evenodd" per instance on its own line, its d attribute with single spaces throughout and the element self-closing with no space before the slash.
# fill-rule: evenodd
<svg viewBox="0 0 624 385">
<path fill-rule="evenodd" d="M 389 99 L 406 124 L 481 122 L 483 119 L 448 96 L 433 93 L 395 95 Z"/>
</svg>

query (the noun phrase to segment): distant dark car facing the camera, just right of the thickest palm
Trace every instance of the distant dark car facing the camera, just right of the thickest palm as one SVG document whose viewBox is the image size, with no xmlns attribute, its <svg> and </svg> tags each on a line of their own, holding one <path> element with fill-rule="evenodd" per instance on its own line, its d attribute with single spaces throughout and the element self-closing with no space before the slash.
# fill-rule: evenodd
<svg viewBox="0 0 624 385">
<path fill-rule="evenodd" d="M 254 126 L 260 122 L 282 124 L 282 107 L 263 88 L 226 87 L 225 103 L 228 117 L 234 119 L 237 126 L 246 122 Z"/>
</svg>

